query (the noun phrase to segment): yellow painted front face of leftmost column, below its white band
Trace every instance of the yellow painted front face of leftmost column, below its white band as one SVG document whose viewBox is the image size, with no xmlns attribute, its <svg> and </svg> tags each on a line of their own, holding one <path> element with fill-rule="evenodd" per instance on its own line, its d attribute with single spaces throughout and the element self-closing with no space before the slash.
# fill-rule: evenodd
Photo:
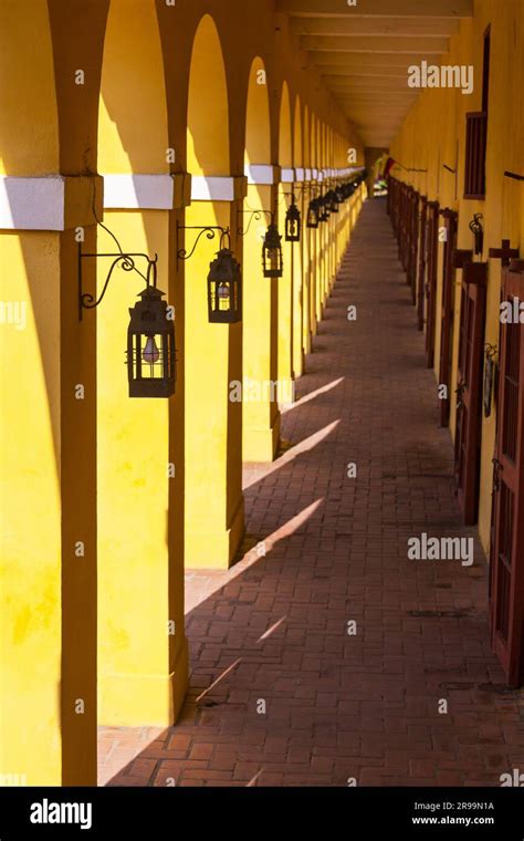
<svg viewBox="0 0 524 841">
<path fill-rule="evenodd" d="M 25 329 L 1 326 L 0 770 L 60 785 L 60 288 L 40 282 L 60 277 L 60 237 L 2 233 L 0 245 L 0 298 L 27 311 Z"/>
</svg>

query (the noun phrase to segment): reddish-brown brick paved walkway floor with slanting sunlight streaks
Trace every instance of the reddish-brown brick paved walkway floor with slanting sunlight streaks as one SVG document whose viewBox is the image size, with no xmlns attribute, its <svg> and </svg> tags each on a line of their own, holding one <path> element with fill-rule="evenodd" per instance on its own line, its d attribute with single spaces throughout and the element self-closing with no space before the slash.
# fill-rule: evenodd
<svg viewBox="0 0 524 841">
<path fill-rule="evenodd" d="M 471 568 L 407 558 L 410 536 L 475 532 L 381 203 L 364 208 L 297 398 L 291 448 L 245 471 L 243 560 L 188 573 L 179 723 L 101 728 L 101 783 L 500 785 L 524 770 L 524 704 L 490 651 L 483 551 L 475 538 Z"/>
</svg>

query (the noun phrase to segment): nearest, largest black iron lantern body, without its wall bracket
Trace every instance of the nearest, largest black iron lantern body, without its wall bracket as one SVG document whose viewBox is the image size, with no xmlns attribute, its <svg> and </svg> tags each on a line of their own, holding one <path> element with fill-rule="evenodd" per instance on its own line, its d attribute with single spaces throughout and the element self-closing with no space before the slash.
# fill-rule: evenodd
<svg viewBox="0 0 524 841">
<path fill-rule="evenodd" d="M 155 266 L 155 264 L 154 264 Z M 175 394 L 175 322 L 163 301 L 165 292 L 148 283 L 129 308 L 127 378 L 129 397 L 170 397 Z"/>
</svg>

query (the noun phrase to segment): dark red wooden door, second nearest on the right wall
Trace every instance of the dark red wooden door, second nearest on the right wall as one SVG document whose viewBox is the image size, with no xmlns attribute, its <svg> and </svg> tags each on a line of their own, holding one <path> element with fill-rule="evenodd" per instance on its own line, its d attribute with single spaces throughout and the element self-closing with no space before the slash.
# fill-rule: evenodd
<svg viewBox="0 0 524 841">
<path fill-rule="evenodd" d="M 459 506 L 467 526 L 475 523 L 479 513 L 486 282 L 488 263 L 463 267 L 454 464 Z"/>
</svg>

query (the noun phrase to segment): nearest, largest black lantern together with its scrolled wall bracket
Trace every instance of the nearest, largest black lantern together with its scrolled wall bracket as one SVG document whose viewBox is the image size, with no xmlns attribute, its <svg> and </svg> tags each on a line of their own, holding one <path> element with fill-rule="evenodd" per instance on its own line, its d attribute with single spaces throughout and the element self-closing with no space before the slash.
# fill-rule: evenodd
<svg viewBox="0 0 524 841">
<path fill-rule="evenodd" d="M 94 205 L 94 201 L 93 201 Z M 95 214 L 96 218 L 96 214 Z M 144 253 L 124 252 L 115 235 L 96 218 L 118 246 L 118 253 L 87 253 L 78 243 L 78 320 L 83 310 L 93 310 L 102 303 L 117 266 L 128 272 L 136 272 L 146 281 L 146 288 L 139 293 L 140 300 L 129 308 L 130 321 L 127 329 L 127 378 L 129 397 L 170 397 L 175 394 L 175 320 L 171 310 L 163 301 L 165 292 L 157 289 L 157 255 L 151 259 Z M 113 260 L 107 272 L 102 292 L 95 299 L 83 290 L 82 266 L 87 259 Z M 137 259 L 147 263 L 146 274 L 136 267 Z"/>
</svg>

